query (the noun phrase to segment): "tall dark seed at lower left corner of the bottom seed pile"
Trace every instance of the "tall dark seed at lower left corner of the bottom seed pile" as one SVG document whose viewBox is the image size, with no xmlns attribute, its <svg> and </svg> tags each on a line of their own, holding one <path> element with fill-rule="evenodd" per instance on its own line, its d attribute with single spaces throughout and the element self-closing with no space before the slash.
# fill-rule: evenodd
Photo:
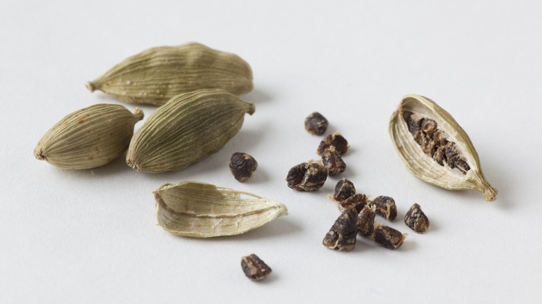
<svg viewBox="0 0 542 304">
<path fill-rule="evenodd" d="M 353 209 L 345 209 L 324 237 L 322 244 L 338 251 L 351 251 L 356 246 L 358 217 Z"/>
</svg>

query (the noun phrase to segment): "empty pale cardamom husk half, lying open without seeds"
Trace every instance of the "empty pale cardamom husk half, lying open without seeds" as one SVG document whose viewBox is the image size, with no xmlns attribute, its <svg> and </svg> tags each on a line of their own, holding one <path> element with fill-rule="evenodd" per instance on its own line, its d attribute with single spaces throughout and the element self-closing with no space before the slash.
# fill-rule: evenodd
<svg viewBox="0 0 542 304">
<path fill-rule="evenodd" d="M 165 183 L 153 193 L 158 224 L 186 237 L 238 235 L 288 215 L 278 201 L 192 180 Z"/>
</svg>

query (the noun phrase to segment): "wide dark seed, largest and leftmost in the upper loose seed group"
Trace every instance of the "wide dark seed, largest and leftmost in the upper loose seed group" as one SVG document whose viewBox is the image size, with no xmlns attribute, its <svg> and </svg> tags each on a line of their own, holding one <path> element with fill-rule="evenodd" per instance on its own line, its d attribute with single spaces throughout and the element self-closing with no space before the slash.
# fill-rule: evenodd
<svg viewBox="0 0 542 304">
<path fill-rule="evenodd" d="M 297 191 L 320 189 L 327 179 L 327 169 L 318 162 L 302 162 L 288 171 L 288 187 Z"/>
</svg>

